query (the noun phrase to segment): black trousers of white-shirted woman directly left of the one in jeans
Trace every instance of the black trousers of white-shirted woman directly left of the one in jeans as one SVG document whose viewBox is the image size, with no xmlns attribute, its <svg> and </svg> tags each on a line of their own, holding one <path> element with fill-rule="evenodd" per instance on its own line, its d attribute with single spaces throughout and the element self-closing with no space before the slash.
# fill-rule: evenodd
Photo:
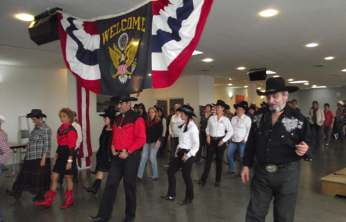
<svg viewBox="0 0 346 222">
<path fill-rule="evenodd" d="M 211 163 L 213 162 L 214 155 L 216 153 L 216 178 L 215 182 L 221 181 L 222 174 L 222 158 L 224 157 L 224 151 L 226 150 L 226 143 L 222 146 L 217 146 L 221 139 L 214 140 L 211 138 L 211 144 L 206 145 L 206 165 L 201 176 L 201 182 L 204 184 L 208 179 L 209 171 L 211 171 Z"/>
</svg>

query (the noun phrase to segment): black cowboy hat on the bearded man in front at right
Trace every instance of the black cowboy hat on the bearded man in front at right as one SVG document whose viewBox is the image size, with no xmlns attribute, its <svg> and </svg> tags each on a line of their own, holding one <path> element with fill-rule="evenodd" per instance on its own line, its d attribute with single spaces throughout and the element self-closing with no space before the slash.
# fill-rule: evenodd
<svg viewBox="0 0 346 222">
<path fill-rule="evenodd" d="M 265 92 L 261 92 L 257 89 L 258 96 L 267 96 L 270 94 L 283 92 L 283 91 L 296 92 L 299 90 L 299 87 L 296 87 L 296 86 L 286 86 L 285 80 L 282 77 L 268 78 L 265 84 L 266 84 Z"/>
</svg>

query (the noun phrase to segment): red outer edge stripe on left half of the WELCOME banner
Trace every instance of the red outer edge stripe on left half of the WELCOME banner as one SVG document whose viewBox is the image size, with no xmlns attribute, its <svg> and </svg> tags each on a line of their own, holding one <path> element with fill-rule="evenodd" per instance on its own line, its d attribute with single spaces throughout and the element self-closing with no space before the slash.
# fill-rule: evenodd
<svg viewBox="0 0 346 222">
<path fill-rule="evenodd" d="M 61 15 L 61 13 L 57 13 L 58 14 L 58 28 L 59 28 L 59 36 L 60 36 L 60 46 L 61 49 L 63 51 L 63 56 L 64 56 L 64 60 L 65 60 L 65 65 L 67 67 L 67 69 L 69 69 L 69 71 L 71 71 L 71 67 L 69 66 L 69 62 L 67 62 L 66 60 L 66 41 L 67 41 L 67 33 L 65 32 L 63 26 L 61 26 L 60 20 L 63 19 L 63 15 Z M 88 31 L 90 32 L 90 29 L 85 28 L 85 32 Z M 99 31 L 97 30 L 97 33 L 99 33 Z M 78 74 L 75 74 L 73 71 L 71 71 L 72 74 L 74 74 L 74 76 L 76 76 L 76 78 L 79 80 L 79 82 L 81 82 L 81 86 L 84 87 L 85 89 L 89 89 L 91 92 L 94 92 L 96 94 L 100 94 L 101 93 L 101 89 L 100 89 L 100 81 L 99 79 L 97 80 L 85 80 L 84 78 L 81 78 L 81 76 L 79 76 Z"/>
</svg>

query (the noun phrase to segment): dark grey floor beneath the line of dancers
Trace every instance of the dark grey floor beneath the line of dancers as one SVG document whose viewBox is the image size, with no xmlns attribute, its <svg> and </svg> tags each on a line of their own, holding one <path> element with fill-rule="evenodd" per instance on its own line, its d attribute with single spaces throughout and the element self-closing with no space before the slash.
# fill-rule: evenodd
<svg viewBox="0 0 346 222">
<path fill-rule="evenodd" d="M 142 181 L 137 187 L 136 222 L 140 221 L 245 221 L 247 204 L 249 203 L 249 184 L 243 185 L 240 178 L 222 175 L 221 185 L 215 188 L 215 163 L 205 187 L 195 185 L 195 200 L 189 205 L 181 206 L 185 194 L 185 184 L 181 172 L 176 173 L 177 196 L 176 201 L 165 201 L 159 198 L 167 193 L 167 164 L 168 153 L 158 159 L 158 180 L 150 182 L 151 169 L 149 163 Z M 94 164 L 94 157 L 92 163 Z M 149 161 L 149 160 L 148 160 Z M 224 164 L 224 171 L 226 171 Z M 295 221 L 346 221 L 346 198 L 343 196 L 322 196 L 320 178 L 329 173 L 346 167 L 346 143 L 337 143 L 332 140 L 328 148 L 314 154 L 313 162 L 302 161 L 302 173 L 299 185 L 299 197 L 295 212 Z M 92 167 L 94 169 L 94 167 Z M 204 164 L 192 167 L 192 178 L 199 179 Z M 12 167 L 10 170 L 12 171 Z M 15 176 L 6 178 L 9 171 L 3 171 L 0 178 L 0 208 L 4 221 L 88 221 L 87 215 L 96 215 L 101 200 L 106 179 L 102 181 L 101 189 L 93 196 L 86 193 L 82 187 L 91 186 L 94 175 L 88 170 L 79 171 L 79 184 L 74 187 L 74 205 L 60 210 L 64 202 L 63 187 L 58 187 L 58 195 L 49 208 L 40 207 L 32 202 L 33 195 L 24 192 L 19 200 L 6 194 L 10 189 Z M 105 176 L 107 176 L 105 174 Z M 125 196 L 124 188 L 120 185 L 114 204 L 113 216 L 110 221 L 124 220 Z M 272 206 L 271 206 L 272 208 Z M 272 209 L 267 215 L 267 221 L 273 221 Z"/>
</svg>

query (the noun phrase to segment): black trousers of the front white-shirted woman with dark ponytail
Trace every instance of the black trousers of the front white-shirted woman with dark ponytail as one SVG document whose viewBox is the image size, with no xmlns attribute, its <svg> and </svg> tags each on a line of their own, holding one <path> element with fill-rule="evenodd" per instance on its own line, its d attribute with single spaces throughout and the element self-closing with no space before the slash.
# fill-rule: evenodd
<svg viewBox="0 0 346 222">
<path fill-rule="evenodd" d="M 181 173 L 183 174 L 183 179 L 186 185 L 186 192 L 185 192 L 185 199 L 186 200 L 193 200 L 194 194 L 193 194 L 193 183 L 191 180 L 191 169 L 192 165 L 195 162 L 195 157 L 190 157 L 186 162 L 183 162 L 181 160 L 181 157 L 183 157 L 184 152 L 178 151 L 178 157 L 174 157 L 170 164 L 170 168 L 167 171 L 168 175 L 168 192 L 167 196 L 176 196 L 175 188 L 176 188 L 176 179 L 175 179 L 175 173 L 176 171 L 179 171 L 179 169 L 182 167 Z"/>
</svg>

